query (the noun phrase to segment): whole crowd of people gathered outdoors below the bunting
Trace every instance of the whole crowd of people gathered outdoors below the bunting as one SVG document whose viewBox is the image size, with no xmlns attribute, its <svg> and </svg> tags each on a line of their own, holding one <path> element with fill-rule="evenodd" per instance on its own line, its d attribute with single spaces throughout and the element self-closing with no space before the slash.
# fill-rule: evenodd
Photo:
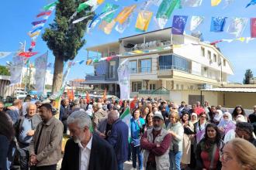
<svg viewBox="0 0 256 170">
<path fill-rule="evenodd" d="M 123 170 L 126 161 L 140 170 L 254 170 L 253 109 L 247 115 L 240 105 L 230 113 L 207 101 L 190 107 L 150 97 L 64 98 L 59 110 L 54 100 L 0 102 L 0 170 L 16 160 L 22 170 L 55 170 L 61 158 L 62 170 Z"/>
</svg>

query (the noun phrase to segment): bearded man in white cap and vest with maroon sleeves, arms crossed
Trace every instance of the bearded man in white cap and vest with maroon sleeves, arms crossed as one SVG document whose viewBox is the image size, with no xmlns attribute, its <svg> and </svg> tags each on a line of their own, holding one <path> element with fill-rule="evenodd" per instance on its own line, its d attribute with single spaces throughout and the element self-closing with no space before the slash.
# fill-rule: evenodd
<svg viewBox="0 0 256 170">
<path fill-rule="evenodd" d="M 140 140 L 141 148 L 144 151 L 144 167 L 146 170 L 168 170 L 169 148 L 171 143 L 171 134 L 163 127 L 164 117 L 161 114 L 154 114 L 153 129 L 144 133 Z"/>
</svg>

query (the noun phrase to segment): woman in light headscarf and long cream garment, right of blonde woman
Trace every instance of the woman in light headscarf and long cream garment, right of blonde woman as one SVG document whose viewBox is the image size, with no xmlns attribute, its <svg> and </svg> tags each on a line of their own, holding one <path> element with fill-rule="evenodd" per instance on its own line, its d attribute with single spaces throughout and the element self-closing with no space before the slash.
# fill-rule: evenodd
<svg viewBox="0 0 256 170">
<path fill-rule="evenodd" d="M 189 112 L 182 112 L 182 121 L 184 128 L 183 145 L 182 145 L 182 167 L 186 168 L 190 164 L 191 156 L 191 139 L 194 134 L 194 125 L 189 121 Z"/>
</svg>

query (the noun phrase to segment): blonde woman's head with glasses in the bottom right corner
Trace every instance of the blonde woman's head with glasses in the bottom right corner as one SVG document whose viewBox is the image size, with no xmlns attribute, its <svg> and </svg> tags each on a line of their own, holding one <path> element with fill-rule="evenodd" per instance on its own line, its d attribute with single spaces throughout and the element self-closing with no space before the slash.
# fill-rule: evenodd
<svg viewBox="0 0 256 170">
<path fill-rule="evenodd" d="M 234 138 L 223 148 L 220 155 L 221 170 L 254 170 L 256 148 L 249 141 Z"/>
</svg>

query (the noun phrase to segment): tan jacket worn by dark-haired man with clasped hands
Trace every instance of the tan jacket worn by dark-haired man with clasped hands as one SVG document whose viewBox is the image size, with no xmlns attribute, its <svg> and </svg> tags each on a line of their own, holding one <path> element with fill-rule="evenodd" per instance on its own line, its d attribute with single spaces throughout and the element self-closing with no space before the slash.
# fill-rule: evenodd
<svg viewBox="0 0 256 170">
<path fill-rule="evenodd" d="M 38 124 L 32 141 L 29 144 L 29 155 L 35 154 L 36 142 L 43 127 L 40 142 L 37 149 L 36 166 L 55 165 L 61 159 L 61 142 L 63 136 L 63 124 L 55 117 L 51 117 L 45 124 Z"/>
</svg>

